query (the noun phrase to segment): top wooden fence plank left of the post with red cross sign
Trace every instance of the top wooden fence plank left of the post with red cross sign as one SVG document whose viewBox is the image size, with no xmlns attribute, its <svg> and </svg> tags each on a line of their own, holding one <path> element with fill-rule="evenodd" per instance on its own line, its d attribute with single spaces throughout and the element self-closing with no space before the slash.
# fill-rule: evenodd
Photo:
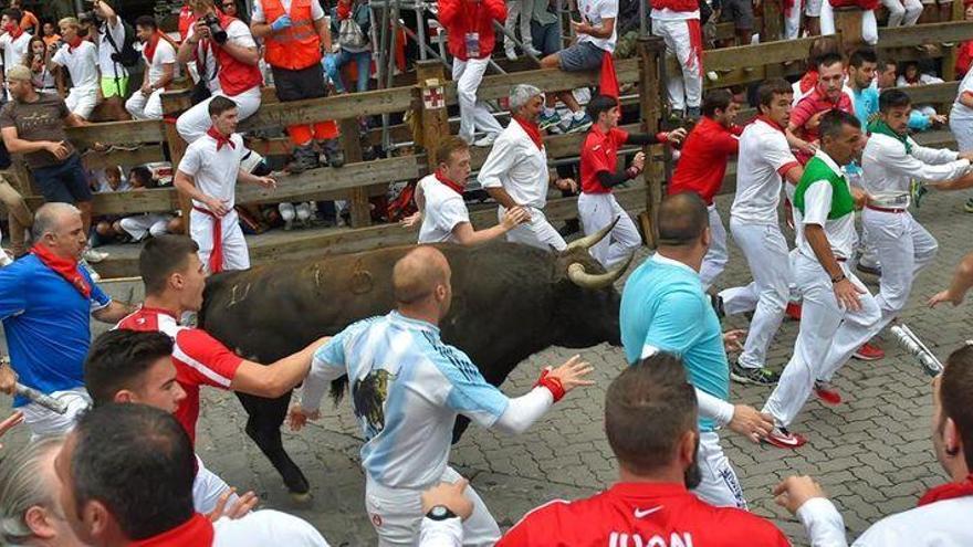
<svg viewBox="0 0 973 547">
<path fill-rule="evenodd" d="M 412 87 L 364 93 L 347 93 L 323 98 L 306 98 L 262 105 L 260 111 L 240 124 L 240 132 L 312 124 L 322 119 L 357 118 L 404 112 L 412 106 Z"/>
</svg>

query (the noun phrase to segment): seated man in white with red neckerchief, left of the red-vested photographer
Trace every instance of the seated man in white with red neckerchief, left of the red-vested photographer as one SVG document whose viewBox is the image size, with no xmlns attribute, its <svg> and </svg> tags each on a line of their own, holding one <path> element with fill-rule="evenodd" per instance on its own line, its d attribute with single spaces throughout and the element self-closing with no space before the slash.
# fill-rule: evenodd
<svg viewBox="0 0 973 547">
<path fill-rule="evenodd" d="M 155 18 L 142 15 L 135 21 L 135 35 L 142 42 L 146 70 L 142 88 L 125 102 L 134 119 L 163 119 L 163 92 L 176 77 L 176 46 Z"/>
</svg>

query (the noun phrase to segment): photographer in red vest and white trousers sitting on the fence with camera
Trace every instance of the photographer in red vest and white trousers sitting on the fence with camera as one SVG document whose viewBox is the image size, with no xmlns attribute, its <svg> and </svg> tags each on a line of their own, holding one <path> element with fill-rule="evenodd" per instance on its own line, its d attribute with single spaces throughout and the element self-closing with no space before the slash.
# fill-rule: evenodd
<svg viewBox="0 0 973 547">
<path fill-rule="evenodd" d="M 250 29 L 239 19 L 218 11 L 212 0 L 189 0 L 189 8 L 197 19 L 179 46 L 177 61 L 196 61 L 201 81 L 213 84 L 209 87 L 212 96 L 232 98 L 240 120 L 247 119 L 260 108 L 260 86 L 263 85 L 258 67 L 260 53 Z M 218 66 L 216 75 L 209 69 L 209 60 L 213 57 Z M 187 143 L 205 135 L 212 125 L 211 99 L 197 103 L 176 122 L 176 130 Z"/>
</svg>

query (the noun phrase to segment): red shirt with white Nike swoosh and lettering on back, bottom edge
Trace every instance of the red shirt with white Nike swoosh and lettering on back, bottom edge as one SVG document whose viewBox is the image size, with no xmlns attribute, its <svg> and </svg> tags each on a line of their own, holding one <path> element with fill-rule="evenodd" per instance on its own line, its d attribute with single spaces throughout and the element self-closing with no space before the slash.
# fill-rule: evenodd
<svg viewBox="0 0 973 547">
<path fill-rule="evenodd" d="M 770 520 L 714 507 L 681 484 L 619 483 L 587 499 L 554 501 L 527 513 L 496 547 L 787 547 Z"/>
</svg>

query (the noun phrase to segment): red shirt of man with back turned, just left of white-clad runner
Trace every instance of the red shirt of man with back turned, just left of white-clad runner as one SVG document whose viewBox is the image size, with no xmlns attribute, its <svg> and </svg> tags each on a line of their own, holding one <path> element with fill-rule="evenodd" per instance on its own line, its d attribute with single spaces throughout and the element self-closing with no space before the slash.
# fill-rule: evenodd
<svg viewBox="0 0 973 547">
<path fill-rule="evenodd" d="M 726 161 L 740 148 L 736 136 L 741 133 L 743 128 L 740 126 L 728 128 L 719 122 L 701 117 L 682 144 L 676 172 L 669 182 L 669 193 L 695 192 L 707 204 L 712 204 L 713 196 L 723 186 Z"/>
</svg>

